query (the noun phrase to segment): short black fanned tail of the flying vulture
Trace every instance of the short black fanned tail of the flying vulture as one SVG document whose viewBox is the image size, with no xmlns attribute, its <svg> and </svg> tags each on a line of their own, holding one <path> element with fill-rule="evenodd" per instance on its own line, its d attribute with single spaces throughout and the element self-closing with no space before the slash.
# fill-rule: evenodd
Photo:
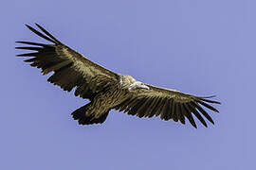
<svg viewBox="0 0 256 170">
<path fill-rule="evenodd" d="M 80 109 L 72 112 L 72 116 L 75 120 L 78 120 L 80 125 L 102 124 L 109 113 L 109 110 L 104 112 L 100 117 L 94 117 L 94 114 L 86 115 L 88 105 L 82 106 Z"/>
</svg>

